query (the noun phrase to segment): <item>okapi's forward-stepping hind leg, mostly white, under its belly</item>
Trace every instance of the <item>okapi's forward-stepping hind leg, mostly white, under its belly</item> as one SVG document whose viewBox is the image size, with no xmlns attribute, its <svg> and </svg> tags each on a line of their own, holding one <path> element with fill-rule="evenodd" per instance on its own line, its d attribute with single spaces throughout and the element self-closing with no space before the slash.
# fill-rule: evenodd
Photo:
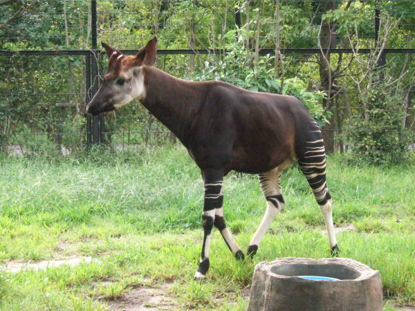
<svg viewBox="0 0 415 311">
<path fill-rule="evenodd" d="M 261 184 L 261 189 L 266 198 L 266 211 L 257 231 L 254 236 L 252 236 L 252 240 L 249 243 L 247 254 L 250 258 L 253 258 L 253 256 L 257 254 L 259 243 L 261 243 L 266 231 L 271 223 L 273 223 L 275 216 L 277 216 L 284 207 L 284 198 L 282 198 L 282 191 L 279 185 L 279 177 L 281 174 L 282 171 L 278 168 L 259 174 L 259 183 Z"/>
</svg>

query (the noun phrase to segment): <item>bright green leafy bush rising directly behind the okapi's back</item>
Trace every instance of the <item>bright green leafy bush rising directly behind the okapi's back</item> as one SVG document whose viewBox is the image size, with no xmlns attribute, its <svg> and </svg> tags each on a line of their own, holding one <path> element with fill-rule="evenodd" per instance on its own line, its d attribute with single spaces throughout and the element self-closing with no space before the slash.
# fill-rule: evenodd
<svg viewBox="0 0 415 311">
<path fill-rule="evenodd" d="M 275 77 L 275 57 L 268 54 L 255 62 L 254 53 L 245 46 L 247 37 L 244 28 L 227 32 L 223 48 L 228 53 L 221 55 L 221 59 L 215 57 L 206 61 L 205 66 L 196 71 L 194 79 L 221 80 L 250 91 L 292 95 L 306 105 L 320 125 L 329 123 L 330 112 L 324 111 L 321 104 L 326 93 L 307 91 L 306 83 L 297 77 L 284 81 Z"/>
</svg>

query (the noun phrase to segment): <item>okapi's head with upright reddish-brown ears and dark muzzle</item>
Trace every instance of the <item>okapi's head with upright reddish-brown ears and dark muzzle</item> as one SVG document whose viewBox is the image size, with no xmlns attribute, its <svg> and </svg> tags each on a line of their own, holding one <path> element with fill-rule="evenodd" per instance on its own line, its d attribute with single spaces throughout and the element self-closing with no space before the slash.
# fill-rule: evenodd
<svg viewBox="0 0 415 311">
<path fill-rule="evenodd" d="M 120 50 L 103 42 L 102 46 L 109 58 L 109 64 L 98 93 L 86 105 L 86 113 L 92 115 L 113 111 L 136 98 L 143 100 L 145 85 L 142 66 L 153 66 L 156 62 L 156 37 L 138 51 L 136 56 L 124 56 Z"/>
</svg>

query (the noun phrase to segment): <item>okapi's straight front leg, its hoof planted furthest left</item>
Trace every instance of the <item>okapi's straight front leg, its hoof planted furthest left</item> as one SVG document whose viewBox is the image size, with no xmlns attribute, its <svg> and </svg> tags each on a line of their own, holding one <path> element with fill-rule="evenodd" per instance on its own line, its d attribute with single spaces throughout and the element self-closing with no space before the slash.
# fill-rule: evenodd
<svg viewBox="0 0 415 311">
<path fill-rule="evenodd" d="M 194 274 L 195 280 L 204 279 L 206 272 L 209 270 L 210 234 L 214 225 L 215 210 L 221 208 L 223 204 L 223 171 L 218 169 L 205 169 L 203 171 L 203 179 L 205 182 L 205 201 L 202 216 L 203 244 L 199 268 L 196 274 Z"/>
</svg>

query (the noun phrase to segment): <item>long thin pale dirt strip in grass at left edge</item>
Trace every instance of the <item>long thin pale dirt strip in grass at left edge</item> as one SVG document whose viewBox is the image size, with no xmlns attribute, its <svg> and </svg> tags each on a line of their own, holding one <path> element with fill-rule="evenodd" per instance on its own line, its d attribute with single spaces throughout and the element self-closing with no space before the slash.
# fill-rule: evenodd
<svg viewBox="0 0 415 311">
<path fill-rule="evenodd" d="M 36 262 L 15 260 L 15 261 L 8 261 L 7 263 L 0 265 L 0 271 L 10 272 L 10 273 L 17 273 L 21 270 L 28 270 L 28 269 L 33 269 L 35 271 L 38 271 L 38 270 L 46 270 L 48 267 L 59 267 L 59 265 L 75 266 L 75 265 L 79 265 L 80 263 L 93 263 L 93 262 L 99 262 L 99 261 L 98 259 L 92 258 L 91 256 L 71 256 L 68 258 L 53 259 L 50 261 L 36 261 Z"/>
</svg>

